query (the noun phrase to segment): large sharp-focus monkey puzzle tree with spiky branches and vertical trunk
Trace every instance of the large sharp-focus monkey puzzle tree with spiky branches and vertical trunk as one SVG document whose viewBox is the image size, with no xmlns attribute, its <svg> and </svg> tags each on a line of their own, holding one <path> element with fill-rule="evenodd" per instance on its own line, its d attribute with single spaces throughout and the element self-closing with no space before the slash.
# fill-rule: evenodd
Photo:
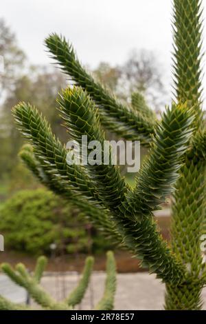
<svg viewBox="0 0 206 324">
<path fill-rule="evenodd" d="M 166 284 L 166 310 L 198 310 L 206 270 L 201 254 L 205 226 L 206 132 L 201 100 L 201 0 L 174 0 L 174 92 L 171 108 L 154 118 L 140 95 L 119 103 L 96 83 L 72 46 L 57 34 L 45 43 L 63 72 L 76 83 L 58 97 L 70 136 L 103 143 L 101 125 L 150 148 L 134 189 L 114 165 L 68 165 L 67 150 L 30 104 L 13 109 L 32 146 L 21 158 L 45 185 L 69 199 L 117 243 L 123 243 Z M 88 150 L 89 151 L 89 150 Z M 90 152 L 90 151 L 89 151 Z M 104 152 L 105 153 L 105 152 Z M 111 151 L 107 152 L 108 159 Z M 173 194 L 172 243 L 163 241 L 153 212 Z"/>
</svg>

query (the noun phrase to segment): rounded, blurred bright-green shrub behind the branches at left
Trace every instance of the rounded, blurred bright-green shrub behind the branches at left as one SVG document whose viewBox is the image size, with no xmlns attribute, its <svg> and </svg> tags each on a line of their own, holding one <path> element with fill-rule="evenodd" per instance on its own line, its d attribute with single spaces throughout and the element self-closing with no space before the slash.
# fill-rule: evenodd
<svg viewBox="0 0 206 324">
<path fill-rule="evenodd" d="M 93 242 L 93 252 L 102 252 L 103 239 L 91 229 L 91 241 L 88 227 L 78 210 L 44 188 L 21 190 L 1 207 L 0 231 L 5 246 L 16 251 L 49 254 L 51 243 L 56 243 L 56 252 L 88 252 Z"/>
</svg>

